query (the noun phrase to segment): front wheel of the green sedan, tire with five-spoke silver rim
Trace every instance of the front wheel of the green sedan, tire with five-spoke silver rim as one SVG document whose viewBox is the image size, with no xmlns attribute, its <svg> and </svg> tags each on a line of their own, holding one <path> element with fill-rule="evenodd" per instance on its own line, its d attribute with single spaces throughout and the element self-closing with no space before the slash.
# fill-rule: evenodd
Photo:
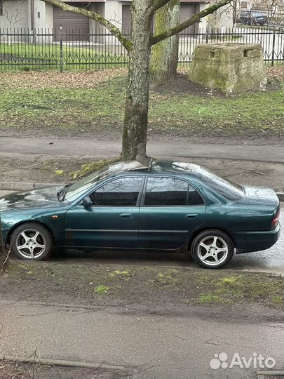
<svg viewBox="0 0 284 379">
<path fill-rule="evenodd" d="M 46 260 L 52 251 L 52 235 L 36 222 L 20 225 L 11 235 L 11 252 L 21 260 Z"/>
</svg>

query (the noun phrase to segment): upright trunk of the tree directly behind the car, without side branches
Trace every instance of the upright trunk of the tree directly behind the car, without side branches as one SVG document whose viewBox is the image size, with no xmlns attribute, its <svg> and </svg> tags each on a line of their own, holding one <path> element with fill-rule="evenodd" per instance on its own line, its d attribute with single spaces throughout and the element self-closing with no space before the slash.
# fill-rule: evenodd
<svg viewBox="0 0 284 379">
<path fill-rule="evenodd" d="M 132 48 L 121 153 L 126 160 L 146 157 L 151 53 L 151 14 L 146 3 L 144 0 L 133 0 L 132 4 Z"/>
</svg>

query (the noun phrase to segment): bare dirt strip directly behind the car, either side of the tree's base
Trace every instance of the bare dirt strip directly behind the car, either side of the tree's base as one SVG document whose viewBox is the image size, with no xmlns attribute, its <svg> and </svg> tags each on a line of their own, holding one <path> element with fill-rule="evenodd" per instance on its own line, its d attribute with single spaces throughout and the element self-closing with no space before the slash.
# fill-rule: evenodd
<svg viewBox="0 0 284 379">
<path fill-rule="evenodd" d="M 170 157 L 168 157 L 170 159 Z M 201 164 L 210 171 L 243 185 L 271 187 L 283 191 L 283 164 L 257 161 L 231 161 L 209 158 L 179 158 Z M 86 173 L 92 167 L 93 159 L 79 157 L 19 154 L 18 157 L 0 156 L 1 182 L 32 182 L 32 183 L 67 183 L 73 180 L 74 173 Z"/>
</svg>

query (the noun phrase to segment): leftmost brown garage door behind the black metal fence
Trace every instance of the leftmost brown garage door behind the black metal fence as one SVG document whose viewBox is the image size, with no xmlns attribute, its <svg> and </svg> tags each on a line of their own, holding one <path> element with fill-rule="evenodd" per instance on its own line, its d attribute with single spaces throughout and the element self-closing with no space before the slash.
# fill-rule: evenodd
<svg viewBox="0 0 284 379">
<path fill-rule="evenodd" d="M 85 8 L 88 4 L 72 3 L 71 5 Z M 84 15 L 77 15 L 61 8 L 53 6 L 53 29 L 56 29 L 56 39 L 60 40 L 60 25 L 65 41 L 88 41 L 89 39 L 89 18 Z"/>
</svg>

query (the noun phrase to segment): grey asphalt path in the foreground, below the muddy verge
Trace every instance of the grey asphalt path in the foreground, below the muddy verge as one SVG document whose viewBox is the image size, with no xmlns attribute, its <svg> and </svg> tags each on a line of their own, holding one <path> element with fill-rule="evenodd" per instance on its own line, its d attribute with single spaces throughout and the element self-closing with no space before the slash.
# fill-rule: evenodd
<svg viewBox="0 0 284 379">
<path fill-rule="evenodd" d="M 206 317 L 208 310 L 203 311 L 177 317 L 134 311 L 131 305 L 102 310 L 1 300 L 0 355 L 32 357 L 36 352 L 45 359 L 117 365 L 124 378 L 133 379 L 256 378 L 259 366 L 253 364 L 212 369 L 211 359 L 221 352 L 228 364 L 235 353 L 245 359 L 257 353 L 272 357 L 275 368 L 283 369 L 282 322 L 253 317 L 269 310 L 244 310 L 241 305 L 223 317 L 214 310 Z"/>
</svg>

